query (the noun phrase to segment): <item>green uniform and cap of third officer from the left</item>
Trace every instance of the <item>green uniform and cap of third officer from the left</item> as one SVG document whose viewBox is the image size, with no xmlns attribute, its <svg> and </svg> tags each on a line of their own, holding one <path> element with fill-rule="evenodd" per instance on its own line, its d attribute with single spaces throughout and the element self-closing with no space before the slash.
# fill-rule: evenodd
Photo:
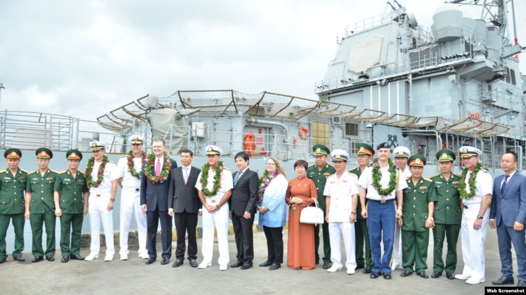
<svg viewBox="0 0 526 295">
<path fill-rule="evenodd" d="M 80 156 L 79 156 L 80 155 Z M 77 150 L 66 153 L 68 159 L 82 159 Z M 54 191 L 60 193 L 59 204 L 62 210 L 60 216 L 60 251 L 62 257 L 80 254 L 80 234 L 84 220 L 84 193 L 89 192 L 84 174 L 77 171 L 75 177 L 68 170 L 57 175 Z M 71 239 L 69 236 L 71 233 Z"/>
</svg>

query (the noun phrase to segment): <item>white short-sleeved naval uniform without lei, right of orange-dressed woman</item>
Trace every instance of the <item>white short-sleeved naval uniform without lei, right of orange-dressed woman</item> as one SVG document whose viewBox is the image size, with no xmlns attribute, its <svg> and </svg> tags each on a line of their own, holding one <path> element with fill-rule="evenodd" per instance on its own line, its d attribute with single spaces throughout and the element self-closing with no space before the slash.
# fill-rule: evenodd
<svg viewBox="0 0 526 295">
<path fill-rule="evenodd" d="M 358 177 L 349 172 L 343 172 L 338 176 L 332 174 L 327 177 L 323 195 L 330 197 L 329 204 L 329 239 L 333 266 L 341 268 L 341 236 L 345 245 L 347 261 L 345 267 L 348 270 L 356 269 L 356 237 L 355 224 L 349 222 L 352 211 L 352 196 L 360 194 Z M 355 215 L 356 217 L 356 215 Z"/>
</svg>

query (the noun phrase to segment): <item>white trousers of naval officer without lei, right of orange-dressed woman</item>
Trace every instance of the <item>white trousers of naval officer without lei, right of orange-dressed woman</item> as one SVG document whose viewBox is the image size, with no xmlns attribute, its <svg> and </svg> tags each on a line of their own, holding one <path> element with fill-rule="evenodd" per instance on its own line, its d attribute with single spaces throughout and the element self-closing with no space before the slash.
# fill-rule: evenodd
<svg viewBox="0 0 526 295">
<path fill-rule="evenodd" d="M 356 240 L 355 224 L 350 222 L 329 222 L 330 260 L 333 266 L 342 267 L 341 264 L 341 237 L 345 246 L 347 269 L 356 269 Z"/>
</svg>

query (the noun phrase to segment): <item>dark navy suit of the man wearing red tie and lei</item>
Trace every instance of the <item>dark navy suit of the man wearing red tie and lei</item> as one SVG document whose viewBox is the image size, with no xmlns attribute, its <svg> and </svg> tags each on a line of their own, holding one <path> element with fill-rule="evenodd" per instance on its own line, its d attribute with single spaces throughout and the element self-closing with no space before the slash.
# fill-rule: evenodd
<svg viewBox="0 0 526 295">
<path fill-rule="evenodd" d="M 171 167 L 176 168 L 177 163 L 170 159 Z M 155 175 L 155 166 L 151 167 L 151 173 Z M 148 231 L 148 255 L 150 258 L 157 258 L 155 247 L 157 238 L 157 228 L 159 220 L 161 223 L 161 246 L 163 248 L 163 258 L 171 257 L 171 217 L 168 215 L 168 188 L 170 185 L 171 172 L 164 182 L 150 182 L 143 173 L 140 181 L 140 205 L 146 204 L 146 223 Z"/>
</svg>

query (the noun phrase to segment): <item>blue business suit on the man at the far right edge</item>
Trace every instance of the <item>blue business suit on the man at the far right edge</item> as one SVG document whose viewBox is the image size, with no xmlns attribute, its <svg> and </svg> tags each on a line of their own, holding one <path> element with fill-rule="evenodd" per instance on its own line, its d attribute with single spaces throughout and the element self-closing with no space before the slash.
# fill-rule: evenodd
<svg viewBox="0 0 526 295">
<path fill-rule="evenodd" d="M 517 254 L 517 267 L 521 281 L 526 280 L 526 241 L 524 229 L 513 229 L 514 222 L 526 223 L 526 177 L 515 171 L 501 193 L 503 175 L 495 178 L 491 195 L 490 219 L 495 219 L 503 276 L 512 277 L 511 244 Z"/>
</svg>

